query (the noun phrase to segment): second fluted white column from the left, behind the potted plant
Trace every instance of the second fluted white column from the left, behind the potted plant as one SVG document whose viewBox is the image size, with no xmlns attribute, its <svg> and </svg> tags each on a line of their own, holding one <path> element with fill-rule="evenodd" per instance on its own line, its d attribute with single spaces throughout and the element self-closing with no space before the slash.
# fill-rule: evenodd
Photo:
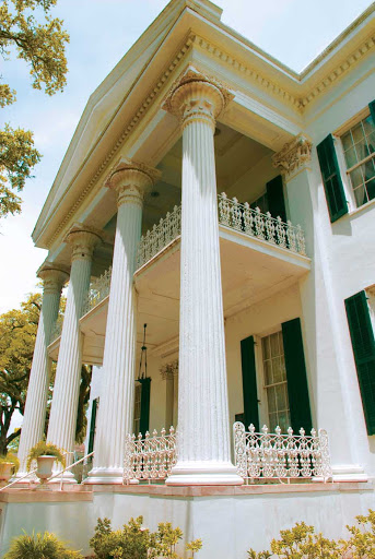
<svg viewBox="0 0 375 559">
<path fill-rule="evenodd" d="M 72 265 L 47 441 L 68 452 L 73 450 L 75 442 L 82 367 L 82 334 L 79 320 L 89 292 L 94 247 L 99 241 L 99 235 L 84 226 L 74 226 L 67 236 L 67 242 L 72 246 Z M 68 479 L 73 479 L 72 474 L 67 475 Z"/>
</svg>

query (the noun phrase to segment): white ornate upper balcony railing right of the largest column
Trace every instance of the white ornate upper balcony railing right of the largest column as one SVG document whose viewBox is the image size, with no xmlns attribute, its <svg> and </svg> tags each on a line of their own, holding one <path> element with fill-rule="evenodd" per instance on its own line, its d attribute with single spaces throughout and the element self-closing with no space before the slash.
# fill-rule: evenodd
<svg viewBox="0 0 375 559">
<path fill-rule="evenodd" d="M 247 202 L 242 204 L 236 198 L 228 199 L 225 192 L 219 195 L 219 223 L 306 255 L 305 236 L 301 225 L 294 226 L 290 221 L 283 223 L 280 216 L 274 218 L 269 212 L 262 214 L 259 207 L 253 210 Z"/>
</svg>

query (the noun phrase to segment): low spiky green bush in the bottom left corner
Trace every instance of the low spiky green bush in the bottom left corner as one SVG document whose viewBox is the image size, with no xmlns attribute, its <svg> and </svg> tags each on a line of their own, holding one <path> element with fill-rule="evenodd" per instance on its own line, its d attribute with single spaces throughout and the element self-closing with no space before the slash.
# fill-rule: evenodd
<svg viewBox="0 0 375 559">
<path fill-rule="evenodd" d="M 45 532 L 15 537 L 3 559 L 83 559 L 83 556 L 68 549 L 55 534 Z"/>
</svg>

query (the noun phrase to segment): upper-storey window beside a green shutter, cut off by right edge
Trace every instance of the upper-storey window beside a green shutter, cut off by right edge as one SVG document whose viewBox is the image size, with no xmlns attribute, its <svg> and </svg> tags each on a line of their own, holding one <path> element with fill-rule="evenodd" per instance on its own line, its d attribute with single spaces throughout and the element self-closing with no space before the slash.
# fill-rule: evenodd
<svg viewBox="0 0 375 559">
<path fill-rule="evenodd" d="M 341 136 L 356 206 L 375 198 L 375 122 L 370 115 Z"/>
</svg>

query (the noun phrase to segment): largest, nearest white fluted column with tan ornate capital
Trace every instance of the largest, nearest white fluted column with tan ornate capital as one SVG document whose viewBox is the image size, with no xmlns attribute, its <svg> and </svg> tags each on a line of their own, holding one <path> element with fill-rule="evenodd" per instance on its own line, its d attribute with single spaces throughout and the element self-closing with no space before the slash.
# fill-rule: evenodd
<svg viewBox="0 0 375 559">
<path fill-rule="evenodd" d="M 165 104 L 183 128 L 178 460 L 168 485 L 241 485 L 231 463 L 213 133 L 232 98 L 189 68 Z"/>
</svg>

